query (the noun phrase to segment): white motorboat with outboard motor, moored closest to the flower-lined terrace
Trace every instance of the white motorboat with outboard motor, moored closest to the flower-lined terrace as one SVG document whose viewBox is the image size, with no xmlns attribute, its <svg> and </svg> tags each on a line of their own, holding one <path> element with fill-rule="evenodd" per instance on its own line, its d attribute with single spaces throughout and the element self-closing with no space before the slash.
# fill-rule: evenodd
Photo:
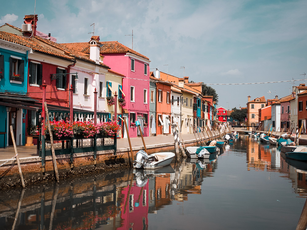
<svg viewBox="0 0 307 230">
<path fill-rule="evenodd" d="M 175 153 L 173 152 L 157 152 L 148 155 L 145 151 L 140 150 L 133 161 L 134 168 L 156 169 L 169 165 Z"/>
</svg>

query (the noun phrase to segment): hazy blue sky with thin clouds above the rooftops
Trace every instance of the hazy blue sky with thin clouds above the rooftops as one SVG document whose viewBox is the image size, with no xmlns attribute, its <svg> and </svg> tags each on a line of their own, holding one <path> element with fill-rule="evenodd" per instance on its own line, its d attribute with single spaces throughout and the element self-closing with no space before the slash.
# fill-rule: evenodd
<svg viewBox="0 0 307 230">
<path fill-rule="evenodd" d="M 38 14 L 37 30 L 58 43 L 88 42 L 95 23 L 101 41 L 119 41 L 150 59 L 151 71 L 189 81 L 253 83 L 305 79 L 307 1 L 35 0 L 1 3 L 0 25 L 21 28 Z M 181 68 L 185 67 L 185 68 Z M 298 86 L 303 81 L 295 81 Z M 290 95 L 292 82 L 210 85 L 218 106 Z M 217 107 L 218 107 L 217 106 Z"/>
</svg>

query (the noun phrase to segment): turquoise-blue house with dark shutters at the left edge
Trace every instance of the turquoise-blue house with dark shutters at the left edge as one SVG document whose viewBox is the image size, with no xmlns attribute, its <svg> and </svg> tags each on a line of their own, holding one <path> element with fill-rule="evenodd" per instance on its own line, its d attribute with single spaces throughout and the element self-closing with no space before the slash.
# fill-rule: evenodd
<svg viewBox="0 0 307 230">
<path fill-rule="evenodd" d="M 28 53 L 31 48 L 10 42 L 0 32 L 0 148 L 12 145 L 10 126 L 17 145 L 25 144 Z M 33 109 L 33 108 L 32 108 Z"/>
</svg>

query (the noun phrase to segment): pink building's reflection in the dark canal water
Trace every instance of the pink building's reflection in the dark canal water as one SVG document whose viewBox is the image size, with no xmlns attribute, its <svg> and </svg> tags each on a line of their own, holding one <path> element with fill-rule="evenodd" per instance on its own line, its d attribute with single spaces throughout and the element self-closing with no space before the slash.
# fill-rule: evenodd
<svg viewBox="0 0 307 230">
<path fill-rule="evenodd" d="M 134 184 L 130 191 L 129 186 L 122 188 L 121 195 L 122 225 L 116 229 L 148 229 L 148 180 L 143 187 Z"/>
</svg>

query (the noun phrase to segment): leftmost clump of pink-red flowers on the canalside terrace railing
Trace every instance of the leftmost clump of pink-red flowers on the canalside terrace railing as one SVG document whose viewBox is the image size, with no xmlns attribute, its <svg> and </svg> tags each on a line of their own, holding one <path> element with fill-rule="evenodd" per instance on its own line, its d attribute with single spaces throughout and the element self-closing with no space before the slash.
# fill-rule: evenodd
<svg viewBox="0 0 307 230">
<path fill-rule="evenodd" d="M 60 139 L 61 137 L 72 137 L 73 131 L 72 131 L 72 125 L 65 122 L 64 120 L 60 121 L 51 121 L 50 122 L 50 128 L 52 135 L 54 135 L 57 139 Z M 49 135 L 48 126 L 45 126 L 45 133 Z"/>
</svg>

